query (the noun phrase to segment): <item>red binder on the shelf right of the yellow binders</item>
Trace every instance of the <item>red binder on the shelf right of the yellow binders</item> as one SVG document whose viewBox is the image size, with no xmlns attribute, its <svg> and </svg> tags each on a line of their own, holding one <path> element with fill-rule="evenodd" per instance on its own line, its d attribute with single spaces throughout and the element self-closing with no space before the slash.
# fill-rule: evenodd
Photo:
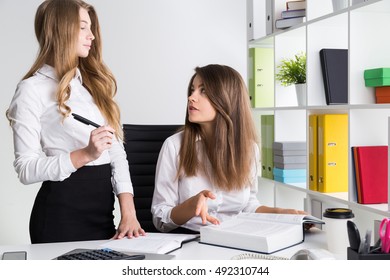
<svg viewBox="0 0 390 280">
<path fill-rule="evenodd" d="M 387 203 L 387 146 L 354 148 L 358 203 Z"/>
</svg>

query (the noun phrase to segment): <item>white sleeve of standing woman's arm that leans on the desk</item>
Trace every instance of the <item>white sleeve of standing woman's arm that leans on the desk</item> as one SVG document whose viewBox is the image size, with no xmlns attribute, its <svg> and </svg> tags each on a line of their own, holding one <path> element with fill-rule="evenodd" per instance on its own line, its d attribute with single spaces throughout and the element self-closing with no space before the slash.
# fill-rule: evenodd
<svg viewBox="0 0 390 280">
<path fill-rule="evenodd" d="M 112 187 L 114 189 L 114 193 L 116 195 L 121 193 L 134 194 L 129 171 L 129 163 L 127 161 L 127 155 L 123 143 L 114 141 L 109 154 L 111 158 Z"/>
</svg>

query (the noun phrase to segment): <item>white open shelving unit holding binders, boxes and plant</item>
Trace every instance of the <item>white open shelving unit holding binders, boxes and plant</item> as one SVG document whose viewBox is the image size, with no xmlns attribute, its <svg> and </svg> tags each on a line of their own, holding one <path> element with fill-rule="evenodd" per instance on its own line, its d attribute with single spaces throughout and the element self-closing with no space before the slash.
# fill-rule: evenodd
<svg viewBox="0 0 390 280">
<path fill-rule="evenodd" d="M 349 6 L 333 11 L 332 0 L 306 0 L 306 21 L 285 30 L 278 30 L 248 43 L 248 48 L 273 47 L 275 69 L 283 58 L 298 52 L 307 55 L 307 104 L 297 106 L 293 86 L 283 87 L 275 82 L 274 107 L 253 108 L 256 120 L 262 114 L 275 116 L 275 141 L 306 141 L 310 114 L 345 113 L 349 116 L 349 148 L 364 145 L 388 145 L 390 104 L 375 104 L 374 89 L 365 87 L 364 70 L 390 67 L 390 0 L 350 0 Z M 275 0 L 275 11 L 282 0 Z M 276 18 L 276 16 L 274 17 Z M 319 51 L 322 48 L 349 50 L 349 103 L 326 105 Z M 349 149 L 350 150 L 350 149 Z M 309 162 L 309 161 L 308 161 Z M 363 205 L 356 201 L 355 179 L 349 153 L 349 187 L 347 193 L 319 193 L 309 187 L 295 187 L 260 178 L 260 200 L 275 206 L 303 208 L 311 211 L 314 202 L 323 209 L 348 207 L 357 213 L 362 227 L 373 228 L 372 221 L 390 216 L 389 204 Z M 390 192 L 389 192 L 390 193 Z M 272 199 L 265 198 L 272 195 Z M 316 204 L 318 205 L 318 204 Z M 318 210 L 318 209 L 317 209 Z"/>
</svg>

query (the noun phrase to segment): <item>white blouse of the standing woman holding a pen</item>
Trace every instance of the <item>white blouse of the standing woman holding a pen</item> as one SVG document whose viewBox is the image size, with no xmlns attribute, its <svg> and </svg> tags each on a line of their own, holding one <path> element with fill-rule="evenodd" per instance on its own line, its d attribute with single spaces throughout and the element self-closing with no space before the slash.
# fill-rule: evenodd
<svg viewBox="0 0 390 280">
<path fill-rule="evenodd" d="M 63 181 L 76 171 L 72 151 L 88 145 L 95 127 L 73 117 L 63 121 L 55 98 L 58 79 L 55 70 L 44 65 L 32 77 L 21 81 L 9 107 L 13 129 L 14 167 L 23 184 L 42 181 Z M 106 122 L 92 96 L 82 85 L 77 69 L 70 82 L 70 98 L 66 102 L 72 112 L 104 125 Z M 126 152 L 122 142 L 115 140 L 111 149 L 88 165 L 111 164 L 113 190 L 116 194 L 133 193 Z"/>
</svg>

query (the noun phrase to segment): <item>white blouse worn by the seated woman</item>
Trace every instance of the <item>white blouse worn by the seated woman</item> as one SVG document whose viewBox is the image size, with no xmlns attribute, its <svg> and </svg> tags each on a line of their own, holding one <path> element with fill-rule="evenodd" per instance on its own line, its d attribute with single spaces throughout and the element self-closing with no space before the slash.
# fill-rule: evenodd
<svg viewBox="0 0 390 280">
<path fill-rule="evenodd" d="M 259 150 L 255 146 L 255 160 L 251 171 L 250 185 L 239 191 L 222 191 L 212 185 L 203 174 L 193 177 L 180 177 L 176 180 L 179 167 L 179 151 L 183 132 L 176 133 L 164 142 L 156 168 L 155 189 L 152 202 L 153 223 L 162 232 L 171 231 L 177 227 L 171 219 L 172 208 L 183 203 L 202 190 L 210 190 L 216 195 L 215 200 L 208 199 L 209 214 L 223 221 L 240 212 L 255 212 L 260 206 L 257 194 L 257 172 Z M 198 140 L 199 150 L 201 140 Z M 182 227 L 199 231 L 202 226 L 200 217 L 193 217 Z"/>
</svg>

